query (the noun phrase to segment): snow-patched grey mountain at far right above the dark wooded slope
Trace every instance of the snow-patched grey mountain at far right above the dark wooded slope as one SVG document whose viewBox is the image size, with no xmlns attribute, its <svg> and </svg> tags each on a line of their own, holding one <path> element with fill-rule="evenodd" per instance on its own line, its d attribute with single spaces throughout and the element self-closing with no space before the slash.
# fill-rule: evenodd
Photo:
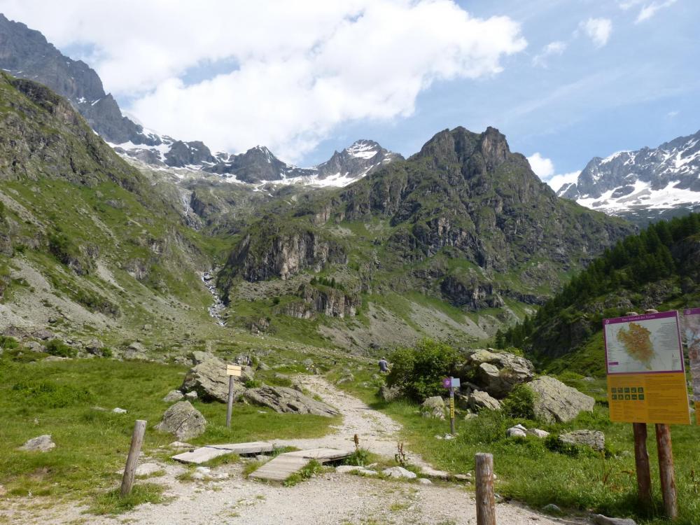
<svg viewBox="0 0 700 525">
<path fill-rule="evenodd" d="M 557 195 L 638 223 L 700 209 L 700 131 L 594 158 Z"/>
</svg>

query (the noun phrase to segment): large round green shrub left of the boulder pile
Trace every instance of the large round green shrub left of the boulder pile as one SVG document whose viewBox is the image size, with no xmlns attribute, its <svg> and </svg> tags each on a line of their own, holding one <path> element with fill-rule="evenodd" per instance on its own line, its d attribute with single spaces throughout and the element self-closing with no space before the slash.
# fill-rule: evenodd
<svg viewBox="0 0 700 525">
<path fill-rule="evenodd" d="M 458 358 L 454 348 L 430 339 L 423 339 L 414 348 L 398 348 L 391 354 L 386 384 L 399 386 L 416 401 L 440 395 L 442 379 L 455 369 Z"/>
</svg>

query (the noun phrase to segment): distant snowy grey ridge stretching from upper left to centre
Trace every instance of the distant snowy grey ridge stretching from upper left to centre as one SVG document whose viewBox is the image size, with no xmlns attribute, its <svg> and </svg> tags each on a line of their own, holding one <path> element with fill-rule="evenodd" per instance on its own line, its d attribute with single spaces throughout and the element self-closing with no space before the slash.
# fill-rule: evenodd
<svg viewBox="0 0 700 525">
<path fill-rule="evenodd" d="M 374 141 L 359 140 L 318 166 L 299 168 L 277 159 L 265 146 L 244 153 L 212 153 L 202 141 L 161 135 L 123 116 L 102 80 L 81 60 L 63 55 L 39 31 L 0 14 L 0 68 L 12 76 L 42 83 L 66 97 L 120 155 L 163 168 L 220 174 L 244 183 L 281 182 L 346 186 L 372 169 L 401 158 Z"/>
</svg>

